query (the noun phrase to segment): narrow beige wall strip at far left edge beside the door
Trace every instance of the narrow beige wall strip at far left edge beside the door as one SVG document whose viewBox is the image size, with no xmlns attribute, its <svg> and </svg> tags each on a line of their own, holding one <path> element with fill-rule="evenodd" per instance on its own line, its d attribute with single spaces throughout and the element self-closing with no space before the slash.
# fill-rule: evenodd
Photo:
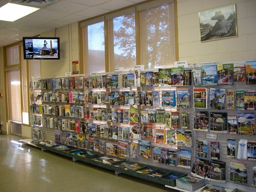
<svg viewBox="0 0 256 192">
<path fill-rule="evenodd" d="M 7 133 L 6 126 L 6 111 L 5 111 L 5 89 L 4 89 L 4 49 L 0 47 L 0 93 L 2 97 L 0 97 L 0 116 L 2 115 L 3 124 L 0 125 L 0 130 L 3 133 Z"/>
</svg>

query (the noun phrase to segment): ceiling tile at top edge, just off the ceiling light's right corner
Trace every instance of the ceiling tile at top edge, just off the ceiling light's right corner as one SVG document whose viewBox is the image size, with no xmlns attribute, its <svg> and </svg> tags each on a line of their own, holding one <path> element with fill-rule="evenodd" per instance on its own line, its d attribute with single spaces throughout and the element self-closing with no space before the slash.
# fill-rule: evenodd
<svg viewBox="0 0 256 192">
<path fill-rule="evenodd" d="M 46 7 L 47 10 L 54 10 L 54 11 L 60 11 L 65 13 L 75 13 L 82 11 L 86 8 L 89 8 L 88 5 L 73 3 L 73 2 L 56 2 L 48 7 Z"/>
</svg>

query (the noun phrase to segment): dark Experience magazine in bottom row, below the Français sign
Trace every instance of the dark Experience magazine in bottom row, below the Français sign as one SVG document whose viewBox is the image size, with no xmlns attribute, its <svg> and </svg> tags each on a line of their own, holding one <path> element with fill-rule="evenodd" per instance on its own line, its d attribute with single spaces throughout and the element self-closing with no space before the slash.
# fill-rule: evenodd
<svg viewBox="0 0 256 192">
<path fill-rule="evenodd" d="M 208 165 L 208 180 L 225 182 L 226 163 L 222 161 L 211 160 Z"/>
</svg>

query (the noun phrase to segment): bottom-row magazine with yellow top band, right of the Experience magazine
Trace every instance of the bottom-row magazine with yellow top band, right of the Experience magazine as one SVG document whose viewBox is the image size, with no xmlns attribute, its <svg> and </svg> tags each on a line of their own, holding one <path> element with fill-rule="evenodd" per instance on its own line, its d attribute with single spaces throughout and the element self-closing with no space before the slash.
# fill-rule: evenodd
<svg viewBox="0 0 256 192">
<path fill-rule="evenodd" d="M 230 180 L 242 184 L 248 182 L 246 163 L 230 161 Z"/>
</svg>

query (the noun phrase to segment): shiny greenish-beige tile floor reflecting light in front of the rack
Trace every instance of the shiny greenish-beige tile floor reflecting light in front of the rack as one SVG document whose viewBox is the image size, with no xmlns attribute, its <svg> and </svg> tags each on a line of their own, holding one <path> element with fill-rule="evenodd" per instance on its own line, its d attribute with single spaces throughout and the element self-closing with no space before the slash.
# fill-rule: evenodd
<svg viewBox="0 0 256 192">
<path fill-rule="evenodd" d="M 114 171 L 72 162 L 52 152 L 29 145 L 21 138 L 0 136 L 0 192 L 167 192 L 162 185 Z"/>
</svg>

